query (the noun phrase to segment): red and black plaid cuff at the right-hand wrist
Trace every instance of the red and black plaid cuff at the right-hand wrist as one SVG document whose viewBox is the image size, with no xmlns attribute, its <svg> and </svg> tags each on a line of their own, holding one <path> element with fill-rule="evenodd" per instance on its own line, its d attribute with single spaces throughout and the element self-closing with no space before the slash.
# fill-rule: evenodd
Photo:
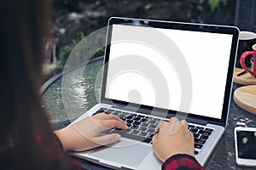
<svg viewBox="0 0 256 170">
<path fill-rule="evenodd" d="M 162 170 L 203 170 L 204 168 L 195 160 L 195 157 L 177 154 L 168 158 L 162 165 Z"/>
</svg>

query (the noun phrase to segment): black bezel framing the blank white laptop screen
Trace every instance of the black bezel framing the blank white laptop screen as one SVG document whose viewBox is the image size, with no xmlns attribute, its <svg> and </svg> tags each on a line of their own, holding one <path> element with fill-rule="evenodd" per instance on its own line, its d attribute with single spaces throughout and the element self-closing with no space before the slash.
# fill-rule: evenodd
<svg viewBox="0 0 256 170">
<path fill-rule="evenodd" d="M 109 54 L 110 54 L 110 48 L 111 48 L 111 37 L 112 37 L 113 25 L 129 25 L 129 26 L 147 25 L 154 28 L 165 28 L 165 29 L 174 29 L 174 30 L 182 30 L 182 31 L 202 31 L 202 32 L 223 33 L 223 34 L 232 35 L 229 68 L 227 72 L 226 86 L 224 91 L 224 102 L 223 102 L 221 119 L 212 118 L 208 116 L 198 116 L 191 113 L 189 114 L 183 113 L 183 115 L 187 116 L 187 119 L 190 119 L 190 118 L 200 119 L 202 122 L 218 124 L 223 127 L 226 126 L 227 117 L 229 113 L 229 106 L 230 106 L 230 94 L 231 94 L 231 88 L 232 88 L 232 82 L 233 82 L 233 71 L 234 71 L 234 66 L 236 62 L 236 48 L 237 48 L 238 37 L 239 37 L 239 30 L 236 26 L 216 26 L 216 25 L 163 21 L 163 20 L 142 20 L 142 19 L 119 18 L 119 17 L 110 18 L 108 20 L 108 32 L 107 32 L 107 40 L 106 40 L 106 47 L 105 47 L 101 102 L 104 104 L 116 105 L 119 107 L 127 105 L 127 102 L 105 98 L 106 82 L 108 77 L 108 60 L 109 60 Z M 139 110 L 145 114 L 147 113 L 150 114 L 151 111 L 153 110 L 158 112 L 165 112 L 165 113 L 168 112 L 168 115 L 166 117 L 175 116 L 177 114 L 177 111 L 156 108 L 148 105 L 138 105 L 138 104 L 129 103 L 129 106 L 134 108 L 139 108 Z"/>
</svg>

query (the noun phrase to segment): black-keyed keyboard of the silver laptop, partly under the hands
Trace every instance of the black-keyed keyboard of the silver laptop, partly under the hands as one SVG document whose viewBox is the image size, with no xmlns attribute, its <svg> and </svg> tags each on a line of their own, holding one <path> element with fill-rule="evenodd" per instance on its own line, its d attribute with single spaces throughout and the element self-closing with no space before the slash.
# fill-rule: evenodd
<svg viewBox="0 0 256 170">
<path fill-rule="evenodd" d="M 134 112 L 107 108 L 102 108 L 99 111 L 96 111 L 96 113 L 101 112 L 118 116 L 127 122 L 127 126 L 129 127 L 127 130 L 114 127 L 112 129 L 105 130 L 103 133 L 119 133 L 124 138 L 135 139 L 148 144 L 152 144 L 152 137 L 157 132 L 156 127 L 161 120 L 164 120 L 159 117 L 144 116 Z M 194 133 L 195 155 L 199 154 L 213 130 L 213 128 L 189 123 L 189 131 Z"/>
</svg>

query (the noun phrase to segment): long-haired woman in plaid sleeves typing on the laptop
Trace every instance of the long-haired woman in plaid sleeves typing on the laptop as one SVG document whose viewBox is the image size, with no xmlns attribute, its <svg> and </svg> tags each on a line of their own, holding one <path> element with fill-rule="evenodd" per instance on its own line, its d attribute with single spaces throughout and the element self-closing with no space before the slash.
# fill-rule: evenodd
<svg viewBox="0 0 256 170">
<path fill-rule="evenodd" d="M 76 127 L 52 133 L 38 92 L 43 54 L 49 54 L 42 53 L 42 49 L 44 42 L 51 39 L 50 16 L 47 0 L 1 3 L 0 169 L 76 169 L 79 167 L 63 150 L 89 150 L 111 144 L 120 139 L 119 134 L 98 134 L 111 127 L 128 128 L 118 117 L 101 113 L 78 122 Z M 179 128 L 170 135 L 172 125 Z M 187 126 L 187 122 L 172 118 L 161 123 L 154 136 L 154 152 L 165 162 L 164 169 L 202 168 L 193 157 L 193 134 Z M 90 132 L 86 127 L 90 127 Z"/>
</svg>

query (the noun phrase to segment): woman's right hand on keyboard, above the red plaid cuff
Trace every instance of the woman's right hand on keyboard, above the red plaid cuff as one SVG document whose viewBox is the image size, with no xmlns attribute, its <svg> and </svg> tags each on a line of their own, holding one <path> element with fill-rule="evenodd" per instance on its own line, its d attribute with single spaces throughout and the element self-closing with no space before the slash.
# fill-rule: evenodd
<svg viewBox="0 0 256 170">
<path fill-rule="evenodd" d="M 160 122 L 159 133 L 152 139 L 153 150 L 160 161 L 176 154 L 194 156 L 194 135 L 188 130 L 188 122 L 172 117 L 170 122 Z"/>
</svg>

